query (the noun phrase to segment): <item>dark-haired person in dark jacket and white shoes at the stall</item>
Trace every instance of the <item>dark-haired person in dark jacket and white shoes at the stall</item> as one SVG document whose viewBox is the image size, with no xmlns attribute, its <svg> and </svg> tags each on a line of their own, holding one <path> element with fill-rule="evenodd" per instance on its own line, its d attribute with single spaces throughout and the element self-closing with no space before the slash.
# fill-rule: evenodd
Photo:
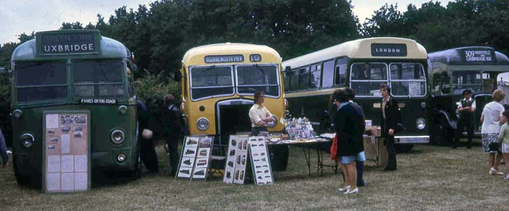
<svg viewBox="0 0 509 211">
<path fill-rule="evenodd" d="M 334 91 L 334 100 L 338 107 L 336 116 L 334 116 L 334 127 L 337 136 L 337 155 L 341 163 L 341 169 L 345 177 L 345 187 L 340 188 L 340 192 L 345 194 L 356 194 L 357 188 L 357 169 L 355 160 L 357 155 L 364 151 L 362 146 L 362 116 L 355 111 L 353 104 L 348 102 L 348 93 L 338 89 Z"/>
</svg>

